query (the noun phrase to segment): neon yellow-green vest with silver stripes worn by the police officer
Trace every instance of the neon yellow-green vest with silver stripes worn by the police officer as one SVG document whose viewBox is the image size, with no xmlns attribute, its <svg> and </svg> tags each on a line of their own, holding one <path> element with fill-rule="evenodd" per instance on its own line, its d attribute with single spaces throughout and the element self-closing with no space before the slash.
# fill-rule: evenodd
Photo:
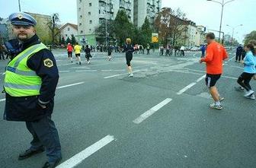
<svg viewBox="0 0 256 168">
<path fill-rule="evenodd" d="M 43 44 L 36 44 L 17 55 L 5 71 L 5 92 L 12 97 L 37 96 L 40 94 L 41 78 L 27 67 L 27 60 L 41 49 L 47 49 Z"/>
</svg>

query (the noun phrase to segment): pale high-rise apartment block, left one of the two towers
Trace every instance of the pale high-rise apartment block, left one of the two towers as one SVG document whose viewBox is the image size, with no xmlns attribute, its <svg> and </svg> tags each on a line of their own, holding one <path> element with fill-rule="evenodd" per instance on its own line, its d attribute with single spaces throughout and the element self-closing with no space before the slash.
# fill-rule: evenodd
<svg viewBox="0 0 256 168">
<path fill-rule="evenodd" d="M 119 9 L 133 22 L 133 0 L 77 0 L 78 40 L 96 45 L 94 30 L 107 20 L 114 20 Z"/>
</svg>

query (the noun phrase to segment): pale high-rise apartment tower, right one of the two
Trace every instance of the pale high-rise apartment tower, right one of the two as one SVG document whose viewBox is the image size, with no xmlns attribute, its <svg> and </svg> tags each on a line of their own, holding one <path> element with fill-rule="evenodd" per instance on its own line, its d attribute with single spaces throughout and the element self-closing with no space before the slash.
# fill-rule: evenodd
<svg viewBox="0 0 256 168">
<path fill-rule="evenodd" d="M 134 0 L 133 4 L 133 23 L 136 27 L 141 27 L 146 17 L 154 24 L 155 17 L 162 8 L 162 0 Z"/>
</svg>

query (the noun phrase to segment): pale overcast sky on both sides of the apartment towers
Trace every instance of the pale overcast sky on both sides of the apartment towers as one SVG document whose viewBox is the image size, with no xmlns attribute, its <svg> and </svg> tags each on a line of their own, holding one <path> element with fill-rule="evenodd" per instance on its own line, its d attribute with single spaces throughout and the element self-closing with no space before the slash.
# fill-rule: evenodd
<svg viewBox="0 0 256 168">
<path fill-rule="evenodd" d="M 221 5 L 217 3 L 206 0 L 162 0 L 162 7 L 181 8 L 187 14 L 187 18 L 197 25 L 219 30 Z M 0 8 L 0 17 L 8 17 L 9 14 L 18 11 L 18 0 L 0 0 Z M 235 38 L 242 42 L 245 34 L 256 30 L 255 10 L 256 0 L 235 0 L 227 4 L 224 7 L 222 30 L 232 34 L 232 28 L 227 27 L 226 24 L 232 27 L 243 24 L 243 27 L 235 29 L 234 34 Z M 21 11 L 40 14 L 59 13 L 62 24 L 66 22 L 77 24 L 76 0 L 21 0 Z"/>
</svg>

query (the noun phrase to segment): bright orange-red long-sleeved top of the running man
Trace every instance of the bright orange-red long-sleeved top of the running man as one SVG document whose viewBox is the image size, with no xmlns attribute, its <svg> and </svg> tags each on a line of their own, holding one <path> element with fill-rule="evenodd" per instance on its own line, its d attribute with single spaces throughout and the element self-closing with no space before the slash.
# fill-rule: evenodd
<svg viewBox="0 0 256 168">
<path fill-rule="evenodd" d="M 226 49 L 219 43 L 213 42 L 207 46 L 206 58 L 201 59 L 206 62 L 207 74 L 222 74 L 223 60 L 228 58 Z"/>
</svg>

